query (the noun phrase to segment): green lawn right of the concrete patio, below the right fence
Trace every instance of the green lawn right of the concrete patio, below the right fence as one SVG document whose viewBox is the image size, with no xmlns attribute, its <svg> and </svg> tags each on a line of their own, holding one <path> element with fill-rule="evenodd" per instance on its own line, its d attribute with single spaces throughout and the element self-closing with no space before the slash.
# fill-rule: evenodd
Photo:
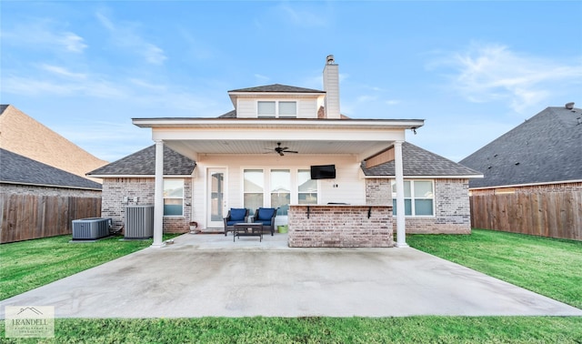
<svg viewBox="0 0 582 344">
<path fill-rule="evenodd" d="M 407 243 L 582 309 L 582 241 L 473 229 L 470 236 L 410 236 Z"/>
</svg>

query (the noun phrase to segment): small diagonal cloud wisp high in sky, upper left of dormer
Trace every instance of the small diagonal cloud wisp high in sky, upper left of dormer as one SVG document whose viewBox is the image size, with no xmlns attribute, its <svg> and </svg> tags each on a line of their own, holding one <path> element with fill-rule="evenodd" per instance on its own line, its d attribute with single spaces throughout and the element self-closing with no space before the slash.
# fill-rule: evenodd
<svg viewBox="0 0 582 344">
<path fill-rule="evenodd" d="M 103 25 L 111 34 L 111 40 L 125 51 L 135 53 L 144 57 L 147 63 L 152 65 L 162 65 L 166 61 L 167 56 L 162 48 L 152 43 L 147 42 L 136 32 L 134 23 L 122 22 L 116 25 L 109 17 L 103 13 L 97 12 L 95 14 L 99 23 Z"/>
</svg>

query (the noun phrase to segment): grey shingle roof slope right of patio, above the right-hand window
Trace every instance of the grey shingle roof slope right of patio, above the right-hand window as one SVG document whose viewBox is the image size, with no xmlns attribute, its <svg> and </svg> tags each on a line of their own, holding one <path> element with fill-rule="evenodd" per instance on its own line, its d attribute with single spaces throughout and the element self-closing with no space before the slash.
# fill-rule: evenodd
<svg viewBox="0 0 582 344">
<path fill-rule="evenodd" d="M 395 176 L 394 160 L 376 167 L 362 170 L 366 177 Z M 429 152 L 421 147 L 404 142 L 402 144 L 402 164 L 405 177 L 481 177 L 474 169 L 457 164 L 445 157 Z"/>
</svg>

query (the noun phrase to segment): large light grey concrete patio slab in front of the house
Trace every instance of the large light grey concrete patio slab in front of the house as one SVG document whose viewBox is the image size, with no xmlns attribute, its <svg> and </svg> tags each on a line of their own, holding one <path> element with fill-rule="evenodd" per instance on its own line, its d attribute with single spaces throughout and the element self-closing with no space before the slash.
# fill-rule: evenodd
<svg viewBox="0 0 582 344">
<path fill-rule="evenodd" d="M 414 248 L 286 248 L 185 235 L 0 302 L 57 318 L 582 316 Z"/>
</svg>

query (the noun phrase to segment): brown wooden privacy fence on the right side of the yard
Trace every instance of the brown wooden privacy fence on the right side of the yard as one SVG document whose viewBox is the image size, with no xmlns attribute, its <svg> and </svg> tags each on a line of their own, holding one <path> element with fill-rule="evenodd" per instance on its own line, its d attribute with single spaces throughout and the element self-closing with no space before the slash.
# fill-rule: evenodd
<svg viewBox="0 0 582 344">
<path fill-rule="evenodd" d="M 473 195 L 471 227 L 582 240 L 582 190 Z"/>
</svg>

